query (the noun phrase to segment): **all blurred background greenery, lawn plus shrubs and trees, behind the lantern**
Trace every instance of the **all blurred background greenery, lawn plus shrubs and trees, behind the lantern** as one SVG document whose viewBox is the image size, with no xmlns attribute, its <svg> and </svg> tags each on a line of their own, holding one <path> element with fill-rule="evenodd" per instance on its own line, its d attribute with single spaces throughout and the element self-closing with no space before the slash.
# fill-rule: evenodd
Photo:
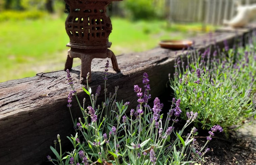
<svg viewBox="0 0 256 165">
<path fill-rule="evenodd" d="M 213 30 L 202 23 L 173 23 L 166 0 L 124 0 L 108 8 L 111 50 L 120 55 L 158 46 L 162 39 L 183 39 Z M 64 0 L 0 0 L 0 82 L 64 68 L 69 37 Z M 80 60 L 75 59 L 74 65 Z"/>
</svg>

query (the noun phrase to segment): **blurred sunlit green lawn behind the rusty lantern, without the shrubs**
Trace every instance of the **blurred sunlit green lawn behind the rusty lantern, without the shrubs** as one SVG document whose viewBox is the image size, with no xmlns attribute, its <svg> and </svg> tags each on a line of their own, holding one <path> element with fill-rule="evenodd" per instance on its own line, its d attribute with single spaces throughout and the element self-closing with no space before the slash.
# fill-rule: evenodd
<svg viewBox="0 0 256 165">
<path fill-rule="evenodd" d="M 32 77 L 40 72 L 64 68 L 69 42 L 63 17 L 48 16 L 38 20 L 1 22 L 0 65 L 4 74 L 0 82 Z M 131 22 L 112 18 L 109 41 L 116 54 L 139 52 L 158 46 L 161 39 L 182 39 L 201 31 L 201 24 L 172 24 L 166 21 Z M 212 27 L 210 27 L 212 29 Z M 80 60 L 75 59 L 74 65 Z"/>
</svg>

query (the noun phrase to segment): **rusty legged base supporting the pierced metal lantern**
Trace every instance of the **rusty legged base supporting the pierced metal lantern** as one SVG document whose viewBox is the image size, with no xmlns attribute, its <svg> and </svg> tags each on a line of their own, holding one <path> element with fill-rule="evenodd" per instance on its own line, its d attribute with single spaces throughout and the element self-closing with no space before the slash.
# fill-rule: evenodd
<svg viewBox="0 0 256 165">
<path fill-rule="evenodd" d="M 111 58 L 112 66 L 114 71 L 121 72 L 118 68 L 117 60 L 115 54 L 109 49 L 77 49 L 70 48 L 68 51 L 67 61 L 65 64 L 65 71 L 67 69 L 71 70 L 73 65 L 73 58 L 81 59 L 81 72 L 80 72 L 80 83 L 86 84 L 86 77 L 89 73 L 88 82 L 92 81 L 91 76 L 91 63 L 93 58 Z"/>
</svg>

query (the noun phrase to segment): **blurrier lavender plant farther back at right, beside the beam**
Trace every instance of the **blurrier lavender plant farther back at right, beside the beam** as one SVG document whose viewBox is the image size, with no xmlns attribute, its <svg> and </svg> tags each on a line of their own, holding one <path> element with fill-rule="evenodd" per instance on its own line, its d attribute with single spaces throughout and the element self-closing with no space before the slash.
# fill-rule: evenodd
<svg viewBox="0 0 256 165">
<path fill-rule="evenodd" d="M 174 78 L 169 79 L 175 97 L 181 99 L 181 117 L 197 112 L 196 126 L 209 129 L 220 125 L 227 131 L 255 115 L 255 45 L 251 42 L 236 50 L 226 44 L 223 52 L 214 46 L 213 58 L 210 48 L 202 54 L 192 51 L 186 66 L 178 59 Z"/>
</svg>

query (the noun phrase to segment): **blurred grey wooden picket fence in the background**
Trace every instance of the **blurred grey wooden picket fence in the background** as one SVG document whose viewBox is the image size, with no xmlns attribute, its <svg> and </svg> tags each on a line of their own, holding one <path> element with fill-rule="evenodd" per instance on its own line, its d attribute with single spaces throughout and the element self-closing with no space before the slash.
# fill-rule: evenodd
<svg viewBox="0 0 256 165">
<path fill-rule="evenodd" d="M 256 0 L 169 0 L 168 18 L 172 22 L 203 22 L 222 25 L 236 13 L 236 5 L 248 5 Z"/>
</svg>

